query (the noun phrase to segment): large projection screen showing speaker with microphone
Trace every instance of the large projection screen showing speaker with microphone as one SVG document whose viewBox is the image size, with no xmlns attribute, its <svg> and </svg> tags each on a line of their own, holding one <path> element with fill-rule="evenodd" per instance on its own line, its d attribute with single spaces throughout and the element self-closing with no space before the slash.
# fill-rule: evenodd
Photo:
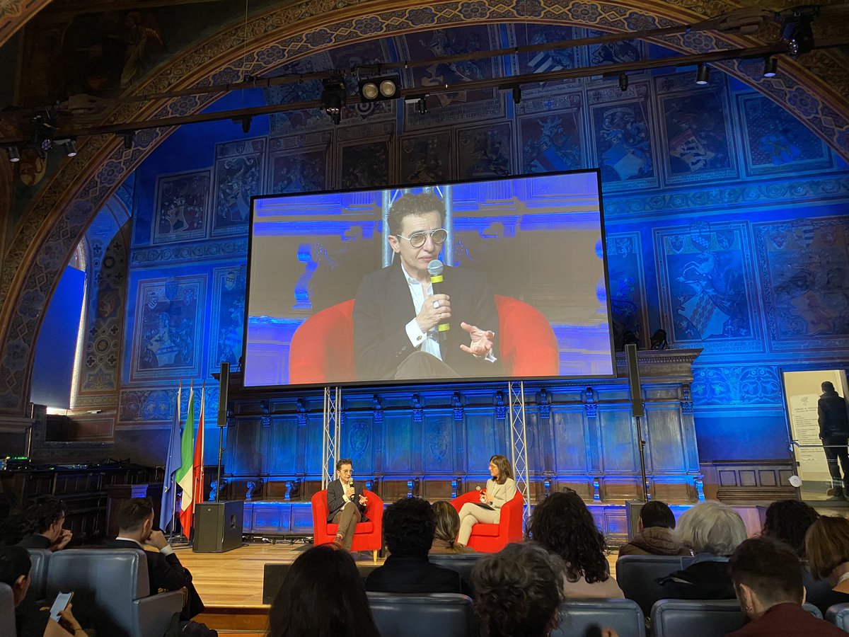
<svg viewBox="0 0 849 637">
<path fill-rule="evenodd" d="M 598 171 L 254 197 L 248 263 L 245 386 L 616 375 Z"/>
</svg>

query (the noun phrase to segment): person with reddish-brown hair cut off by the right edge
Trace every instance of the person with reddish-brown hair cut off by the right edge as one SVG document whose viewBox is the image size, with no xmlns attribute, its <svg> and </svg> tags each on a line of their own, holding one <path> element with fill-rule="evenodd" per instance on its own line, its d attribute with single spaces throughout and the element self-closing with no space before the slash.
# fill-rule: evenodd
<svg viewBox="0 0 849 637">
<path fill-rule="evenodd" d="M 805 534 L 805 552 L 813 577 L 831 585 L 808 601 L 823 614 L 829 606 L 849 603 L 849 520 L 820 516 Z"/>
</svg>

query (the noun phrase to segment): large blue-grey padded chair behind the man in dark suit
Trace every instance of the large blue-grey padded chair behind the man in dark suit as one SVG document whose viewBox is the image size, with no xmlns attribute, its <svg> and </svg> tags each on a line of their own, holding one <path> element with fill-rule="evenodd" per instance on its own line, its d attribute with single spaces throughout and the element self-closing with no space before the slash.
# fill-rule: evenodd
<svg viewBox="0 0 849 637">
<path fill-rule="evenodd" d="M 50 558 L 48 600 L 74 591 L 74 616 L 110 637 L 161 637 L 183 608 L 183 591 L 149 595 L 143 550 L 63 550 Z"/>
</svg>

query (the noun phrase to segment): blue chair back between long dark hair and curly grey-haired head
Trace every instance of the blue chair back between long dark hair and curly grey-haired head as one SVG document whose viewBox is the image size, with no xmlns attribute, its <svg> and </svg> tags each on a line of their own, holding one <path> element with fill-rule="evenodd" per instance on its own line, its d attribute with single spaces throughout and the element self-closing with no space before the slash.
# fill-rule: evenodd
<svg viewBox="0 0 849 637">
<path fill-rule="evenodd" d="M 472 600 L 456 593 L 368 594 L 381 637 L 473 637 Z"/>
</svg>

